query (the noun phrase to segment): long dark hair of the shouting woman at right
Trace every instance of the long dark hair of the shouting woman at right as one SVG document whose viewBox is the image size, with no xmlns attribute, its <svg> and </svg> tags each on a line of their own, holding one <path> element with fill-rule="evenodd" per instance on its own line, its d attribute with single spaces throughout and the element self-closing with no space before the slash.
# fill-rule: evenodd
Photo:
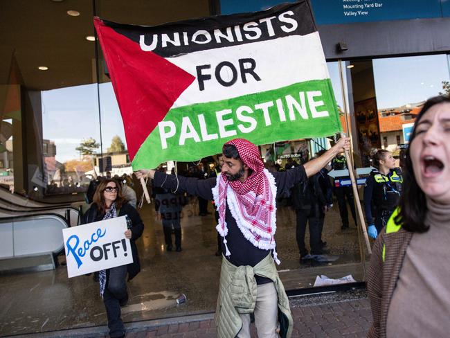
<svg viewBox="0 0 450 338">
<path fill-rule="evenodd" d="M 409 139 L 410 146 L 406 150 L 402 196 L 399 201 L 400 211 L 395 217 L 395 223 L 402 224 L 404 229 L 411 232 L 423 233 L 429 229 L 429 226 L 426 226 L 424 223 L 426 211 L 428 211 L 426 197 L 414 177 L 413 162 L 410 154 L 411 144 L 416 136 L 417 123 L 431 107 L 440 103 L 450 103 L 450 98 L 447 96 L 435 96 L 426 100 L 424 107 L 422 107 L 419 116 L 415 120 L 413 134 L 411 134 L 411 139 Z"/>
</svg>

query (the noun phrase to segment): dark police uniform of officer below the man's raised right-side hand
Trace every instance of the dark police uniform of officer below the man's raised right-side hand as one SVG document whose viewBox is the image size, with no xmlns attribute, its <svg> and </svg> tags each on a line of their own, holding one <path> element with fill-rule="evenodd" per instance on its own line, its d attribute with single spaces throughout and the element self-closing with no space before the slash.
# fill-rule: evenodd
<svg viewBox="0 0 450 338">
<path fill-rule="evenodd" d="M 334 157 L 332 160 L 331 166 L 334 170 L 343 170 L 347 169 L 347 162 L 345 161 L 345 157 L 338 155 Z M 341 177 L 345 179 L 345 177 Z M 350 178 L 349 178 L 350 179 Z M 348 228 L 348 211 L 347 211 L 347 203 L 350 206 L 350 211 L 352 212 L 352 217 L 354 223 L 357 222 L 357 214 L 354 209 L 354 197 L 352 186 L 334 186 L 333 193 L 336 196 L 338 206 L 339 206 L 339 214 L 341 215 L 342 221 L 342 229 Z"/>
</svg>

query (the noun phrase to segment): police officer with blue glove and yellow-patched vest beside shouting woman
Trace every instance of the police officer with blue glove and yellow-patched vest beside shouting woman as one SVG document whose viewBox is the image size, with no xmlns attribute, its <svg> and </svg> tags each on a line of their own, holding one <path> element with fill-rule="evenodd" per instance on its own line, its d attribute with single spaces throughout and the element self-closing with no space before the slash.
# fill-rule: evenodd
<svg viewBox="0 0 450 338">
<path fill-rule="evenodd" d="M 364 211 L 368 235 L 377 238 L 398 204 L 402 191 L 402 170 L 395 168 L 395 159 L 388 150 L 380 149 L 373 155 L 378 170 L 372 170 L 364 189 Z"/>
</svg>

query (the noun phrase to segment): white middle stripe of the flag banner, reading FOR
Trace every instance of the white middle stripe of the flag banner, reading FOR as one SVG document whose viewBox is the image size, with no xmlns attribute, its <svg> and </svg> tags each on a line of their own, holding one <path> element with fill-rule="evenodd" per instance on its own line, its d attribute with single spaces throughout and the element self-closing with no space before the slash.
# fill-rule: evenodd
<svg viewBox="0 0 450 338">
<path fill-rule="evenodd" d="M 254 60 L 254 66 L 251 61 L 245 59 Z M 235 98 L 308 80 L 330 78 L 318 32 L 199 51 L 168 57 L 167 60 L 197 78 L 172 108 Z M 221 63 L 217 79 L 216 69 Z M 234 74 L 231 64 L 235 69 Z M 202 69 L 199 69 L 199 66 L 203 66 Z M 247 69 L 244 71 L 246 83 L 242 80 L 242 68 Z M 197 74 L 200 72 L 199 79 Z M 254 74 L 261 80 L 255 80 Z M 235 83 L 226 85 L 232 82 L 233 76 Z"/>
</svg>

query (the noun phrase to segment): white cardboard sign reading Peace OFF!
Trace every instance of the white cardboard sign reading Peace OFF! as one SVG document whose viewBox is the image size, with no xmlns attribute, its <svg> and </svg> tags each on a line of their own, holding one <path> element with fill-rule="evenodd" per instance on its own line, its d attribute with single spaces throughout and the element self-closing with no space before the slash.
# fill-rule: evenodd
<svg viewBox="0 0 450 338">
<path fill-rule="evenodd" d="M 69 278 L 133 263 L 125 216 L 62 230 Z"/>
</svg>

